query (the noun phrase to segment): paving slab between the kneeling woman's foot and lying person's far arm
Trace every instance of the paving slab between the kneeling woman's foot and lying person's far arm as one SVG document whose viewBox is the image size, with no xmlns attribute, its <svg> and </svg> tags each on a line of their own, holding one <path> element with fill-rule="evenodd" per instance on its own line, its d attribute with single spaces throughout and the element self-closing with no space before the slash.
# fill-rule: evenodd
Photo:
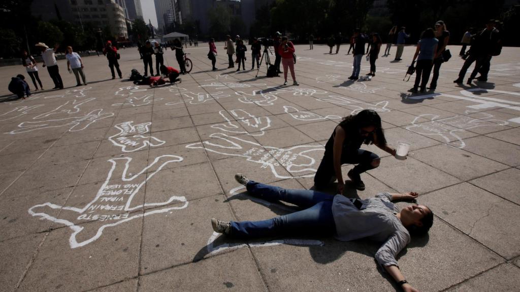
<svg viewBox="0 0 520 292">
<path fill-rule="evenodd" d="M 370 175 L 379 179 L 398 192 L 418 192 L 419 194 L 459 183 L 460 180 L 424 164 L 413 157 L 397 160 L 383 158 L 378 168 L 370 170 Z M 363 174 L 361 174 L 363 179 Z"/>
</svg>

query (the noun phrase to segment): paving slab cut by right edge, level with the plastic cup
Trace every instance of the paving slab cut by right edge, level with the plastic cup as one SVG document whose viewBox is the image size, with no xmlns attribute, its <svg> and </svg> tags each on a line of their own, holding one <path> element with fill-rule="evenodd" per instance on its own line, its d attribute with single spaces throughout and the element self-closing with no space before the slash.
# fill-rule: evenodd
<svg viewBox="0 0 520 292">
<path fill-rule="evenodd" d="M 479 136 L 464 140 L 466 146 L 464 150 L 488 157 L 510 166 L 520 165 L 520 146 Z"/>
</svg>

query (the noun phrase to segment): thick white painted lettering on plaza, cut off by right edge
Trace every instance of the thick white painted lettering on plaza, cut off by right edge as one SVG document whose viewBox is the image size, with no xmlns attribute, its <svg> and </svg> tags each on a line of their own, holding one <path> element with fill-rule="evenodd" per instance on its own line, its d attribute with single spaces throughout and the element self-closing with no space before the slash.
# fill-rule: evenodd
<svg viewBox="0 0 520 292">
<path fill-rule="evenodd" d="M 498 94 L 512 95 L 515 98 L 520 96 L 520 92 L 485 89 L 485 88 L 477 87 L 477 88 L 461 90 L 460 91 L 461 96 L 452 95 L 452 94 L 444 94 L 444 93 L 434 93 L 434 94 L 427 94 L 427 95 L 410 96 L 410 97 L 407 97 L 407 99 L 421 100 L 421 99 L 427 99 L 427 98 L 432 98 L 432 97 L 436 97 L 436 96 L 445 96 L 445 97 L 450 97 L 450 98 L 454 98 L 454 99 L 475 102 L 475 104 L 466 105 L 467 108 L 473 109 L 473 110 L 507 108 L 509 110 L 520 111 L 520 102 L 500 99 L 500 98 L 496 98 L 496 97 L 483 96 L 482 94 L 480 94 L 480 95 L 475 94 L 475 92 L 481 92 L 482 94 L 485 94 L 486 92 L 496 92 Z M 508 122 L 520 124 L 520 116 L 510 118 L 508 120 Z"/>
</svg>

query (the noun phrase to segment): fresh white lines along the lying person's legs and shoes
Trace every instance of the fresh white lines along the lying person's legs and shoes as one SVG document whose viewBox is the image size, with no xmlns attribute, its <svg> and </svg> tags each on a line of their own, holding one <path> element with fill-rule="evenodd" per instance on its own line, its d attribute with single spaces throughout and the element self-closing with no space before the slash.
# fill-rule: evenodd
<svg viewBox="0 0 520 292">
<path fill-rule="evenodd" d="M 241 185 L 240 187 L 237 187 L 235 189 L 232 189 L 229 191 L 229 194 L 231 196 L 237 195 L 239 190 L 243 190 L 245 187 Z M 265 200 L 262 200 L 261 198 L 253 197 L 248 195 L 249 200 L 256 202 L 258 204 L 262 204 L 265 206 L 271 206 L 275 205 L 277 208 L 288 211 L 288 212 L 294 212 L 294 209 L 288 208 L 284 205 L 280 204 L 274 204 Z M 212 256 L 219 253 L 222 253 L 226 250 L 234 250 L 242 247 L 267 247 L 267 246 L 274 246 L 274 245 L 297 245 L 297 246 L 324 246 L 325 243 L 319 240 L 302 240 L 302 239 L 282 239 L 282 240 L 272 240 L 272 241 L 259 241 L 259 242 L 248 242 L 248 243 L 224 243 L 215 246 L 214 242 L 217 239 L 217 237 L 220 235 L 220 233 L 213 232 L 213 234 L 210 236 L 209 240 L 207 240 L 207 255 Z"/>
</svg>

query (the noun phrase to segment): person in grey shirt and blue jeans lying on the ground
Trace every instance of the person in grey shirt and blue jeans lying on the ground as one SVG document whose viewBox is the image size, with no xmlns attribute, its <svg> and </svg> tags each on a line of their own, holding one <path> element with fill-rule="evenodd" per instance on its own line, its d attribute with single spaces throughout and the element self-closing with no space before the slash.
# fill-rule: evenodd
<svg viewBox="0 0 520 292">
<path fill-rule="evenodd" d="M 301 210 L 262 221 L 220 221 L 211 219 L 213 230 L 231 238 L 258 238 L 285 235 L 326 235 L 340 241 L 370 238 L 383 242 L 375 259 L 405 291 L 417 291 L 399 271 L 396 256 L 410 242 L 410 234 L 425 234 L 433 224 L 433 212 L 423 205 L 401 210 L 395 200 L 414 200 L 415 192 L 380 193 L 366 200 L 349 199 L 313 190 L 287 190 L 249 180 L 235 179 L 248 193 L 266 201 L 284 201 Z"/>
</svg>

